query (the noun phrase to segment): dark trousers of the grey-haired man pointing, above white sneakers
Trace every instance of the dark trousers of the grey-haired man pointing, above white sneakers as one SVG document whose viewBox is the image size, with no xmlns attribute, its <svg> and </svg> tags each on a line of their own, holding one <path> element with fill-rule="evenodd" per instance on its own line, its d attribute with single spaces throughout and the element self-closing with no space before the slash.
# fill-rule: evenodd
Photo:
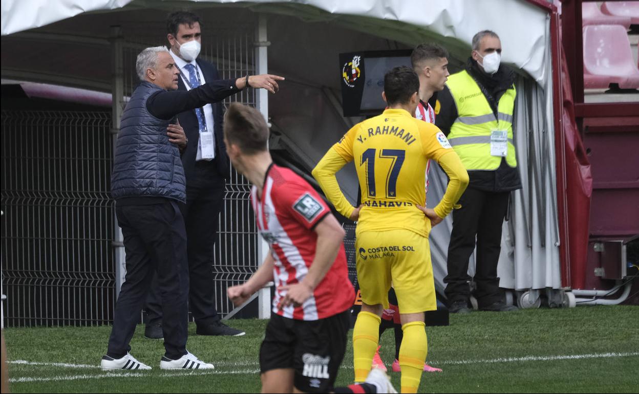
<svg viewBox="0 0 639 394">
<path fill-rule="evenodd" d="M 157 271 L 162 299 L 162 330 L 166 356 L 187 354 L 187 234 L 178 202 L 124 205 L 116 202 L 118 224 L 127 252 L 127 275 L 116 303 L 107 354 L 121 358 L 129 342 Z"/>
</svg>

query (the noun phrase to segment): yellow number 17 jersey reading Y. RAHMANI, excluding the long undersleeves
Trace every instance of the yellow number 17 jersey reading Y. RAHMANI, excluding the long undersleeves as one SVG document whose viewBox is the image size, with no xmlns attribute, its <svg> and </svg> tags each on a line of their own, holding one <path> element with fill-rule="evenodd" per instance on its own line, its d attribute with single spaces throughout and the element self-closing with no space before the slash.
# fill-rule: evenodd
<svg viewBox="0 0 639 394">
<path fill-rule="evenodd" d="M 364 204 L 358 232 L 408 229 L 427 236 L 430 223 L 415 208 L 426 199 L 427 162 L 453 151 L 435 125 L 387 109 L 353 126 L 333 148 L 355 162 Z"/>
</svg>

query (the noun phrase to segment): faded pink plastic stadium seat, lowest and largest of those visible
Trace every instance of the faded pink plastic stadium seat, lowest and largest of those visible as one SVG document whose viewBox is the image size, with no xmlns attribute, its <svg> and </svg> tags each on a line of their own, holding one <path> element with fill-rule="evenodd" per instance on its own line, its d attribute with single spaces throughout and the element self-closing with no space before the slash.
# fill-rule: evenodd
<svg viewBox="0 0 639 394">
<path fill-rule="evenodd" d="M 621 89 L 639 88 L 639 70 L 623 26 L 583 27 L 583 84 L 601 89 L 619 84 Z"/>
</svg>

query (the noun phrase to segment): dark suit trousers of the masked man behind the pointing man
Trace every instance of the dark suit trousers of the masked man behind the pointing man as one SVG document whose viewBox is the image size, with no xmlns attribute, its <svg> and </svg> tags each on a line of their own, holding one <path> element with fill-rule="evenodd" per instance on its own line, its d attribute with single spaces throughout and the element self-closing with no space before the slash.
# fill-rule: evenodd
<svg viewBox="0 0 639 394">
<path fill-rule="evenodd" d="M 224 178 L 215 174 L 204 185 L 187 186 L 187 204 L 182 209 L 189 240 L 189 307 L 197 325 L 211 324 L 220 319 L 215 310 L 212 264 L 226 185 Z M 149 324 L 162 320 L 160 287 L 154 279 L 146 303 Z"/>
</svg>

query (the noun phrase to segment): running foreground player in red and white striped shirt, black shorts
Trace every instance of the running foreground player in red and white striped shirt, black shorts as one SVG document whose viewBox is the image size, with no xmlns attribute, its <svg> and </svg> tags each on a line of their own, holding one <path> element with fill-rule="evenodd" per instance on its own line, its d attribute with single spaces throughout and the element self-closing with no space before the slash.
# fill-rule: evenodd
<svg viewBox="0 0 639 394">
<path fill-rule="evenodd" d="M 371 372 L 363 384 L 334 388 L 346 351 L 355 291 L 348 279 L 342 229 L 319 194 L 295 172 L 273 164 L 268 127 L 258 110 L 231 104 L 224 142 L 235 167 L 249 179 L 260 234 L 270 254 L 228 296 L 241 305 L 275 282 L 273 314 L 259 351 L 263 393 L 396 392 Z"/>
</svg>

